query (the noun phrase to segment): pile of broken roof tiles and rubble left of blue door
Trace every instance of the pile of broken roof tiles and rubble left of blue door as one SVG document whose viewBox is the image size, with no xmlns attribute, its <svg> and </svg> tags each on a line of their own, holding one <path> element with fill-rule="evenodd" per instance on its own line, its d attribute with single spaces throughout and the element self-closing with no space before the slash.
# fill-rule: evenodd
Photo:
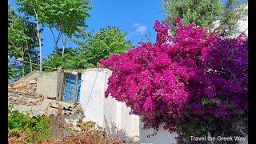
<svg viewBox="0 0 256 144">
<path fill-rule="evenodd" d="M 18 81 L 8 86 L 8 106 L 30 114 L 31 117 L 62 114 L 82 114 L 78 103 L 62 102 L 44 98 L 36 93 L 37 78 L 30 81 Z"/>
</svg>

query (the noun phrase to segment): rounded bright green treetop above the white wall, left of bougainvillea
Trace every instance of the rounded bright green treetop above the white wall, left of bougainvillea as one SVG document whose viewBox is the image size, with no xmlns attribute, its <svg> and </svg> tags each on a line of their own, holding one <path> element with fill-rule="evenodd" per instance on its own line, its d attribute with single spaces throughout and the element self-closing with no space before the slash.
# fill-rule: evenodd
<svg viewBox="0 0 256 144">
<path fill-rule="evenodd" d="M 129 50 L 131 42 L 125 40 L 126 33 L 114 26 L 102 28 L 95 35 L 87 36 L 83 49 L 90 53 L 88 62 L 97 65 L 102 58 L 109 58 L 111 54 L 121 54 Z"/>
</svg>

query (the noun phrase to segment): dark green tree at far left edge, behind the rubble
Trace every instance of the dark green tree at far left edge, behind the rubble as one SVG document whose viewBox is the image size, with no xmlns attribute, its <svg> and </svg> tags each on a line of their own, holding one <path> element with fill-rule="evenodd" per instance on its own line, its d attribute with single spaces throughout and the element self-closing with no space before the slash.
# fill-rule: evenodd
<svg viewBox="0 0 256 144">
<path fill-rule="evenodd" d="M 10 59 L 21 60 L 9 61 L 10 80 L 29 73 L 35 68 L 32 63 L 38 63 L 36 26 L 27 19 L 27 17 L 21 18 L 14 9 L 8 7 L 8 56 Z"/>
</svg>

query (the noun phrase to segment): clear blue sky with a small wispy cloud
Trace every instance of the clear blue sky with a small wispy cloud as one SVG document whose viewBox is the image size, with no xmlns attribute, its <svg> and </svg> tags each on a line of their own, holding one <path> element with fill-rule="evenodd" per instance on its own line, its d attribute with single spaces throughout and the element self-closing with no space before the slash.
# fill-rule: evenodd
<svg viewBox="0 0 256 144">
<path fill-rule="evenodd" d="M 14 0 L 10 2 L 14 6 Z M 126 40 L 130 40 L 134 46 L 146 34 L 150 34 L 151 40 L 154 41 L 154 22 L 157 19 L 162 20 L 165 16 L 162 1 L 159 0 L 93 0 L 90 6 L 93 8 L 89 11 L 90 18 L 86 19 L 87 32 L 94 30 L 96 33 L 100 28 L 117 26 L 122 32 L 127 33 Z M 47 58 L 53 52 L 54 46 L 48 28 L 42 33 L 42 39 L 42 58 Z M 69 43 L 67 46 L 75 45 Z"/>
</svg>

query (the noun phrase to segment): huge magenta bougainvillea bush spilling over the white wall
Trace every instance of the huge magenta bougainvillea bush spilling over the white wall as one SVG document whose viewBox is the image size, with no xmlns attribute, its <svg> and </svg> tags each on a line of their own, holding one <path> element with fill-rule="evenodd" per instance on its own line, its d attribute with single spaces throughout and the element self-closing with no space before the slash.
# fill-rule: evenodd
<svg viewBox="0 0 256 144">
<path fill-rule="evenodd" d="M 180 138 L 200 130 L 223 134 L 247 113 L 247 37 L 182 26 L 179 18 L 175 26 L 172 36 L 171 26 L 157 21 L 155 43 L 102 59 L 99 65 L 113 71 L 106 97 L 125 102 L 146 127 L 164 123 Z"/>
</svg>

